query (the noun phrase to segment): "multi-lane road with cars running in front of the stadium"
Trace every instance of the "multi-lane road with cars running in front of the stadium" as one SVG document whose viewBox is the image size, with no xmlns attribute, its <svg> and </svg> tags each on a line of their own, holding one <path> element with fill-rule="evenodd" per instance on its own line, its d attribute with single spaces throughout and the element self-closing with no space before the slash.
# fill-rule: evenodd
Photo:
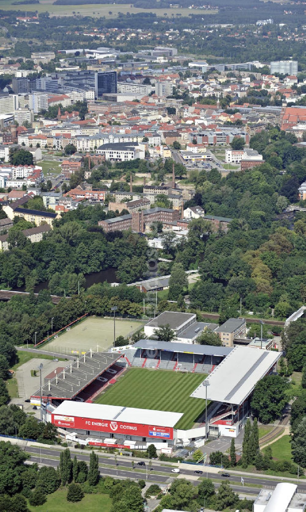
<svg viewBox="0 0 306 512">
<path fill-rule="evenodd" d="M 54 466 L 57 467 L 59 464 L 59 457 L 62 450 L 50 449 L 50 448 L 44 448 L 44 447 L 36 447 L 36 446 L 27 446 L 26 453 L 29 453 L 31 456 L 31 461 L 40 463 L 48 466 Z M 72 451 L 72 455 L 75 453 Z M 41 457 L 41 459 L 40 459 Z M 88 452 L 77 452 L 78 460 L 84 460 L 85 462 L 89 463 L 89 454 Z M 148 461 L 145 461 L 146 464 Z M 132 468 L 132 461 L 130 458 L 123 459 L 123 457 L 117 458 L 117 467 L 115 466 L 115 460 L 114 457 L 105 457 L 103 454 L 99 455 L 99 468 L 101 475 L 109 475 L 114 478 L 132 478 L 132 479 L 144 479 L 146 480 L 146 466 L 139 466 L 137 465 L 137 461 L 135 461 L 134 469 Z M 169 483 L 172 477 L 175 477 L 173 473 L 171 473 L 171 470 L 173 469 L 173 466 L 162 464 L 160 461 L 153 460 L 152 461 L 152 467 L 150 468 L 150 471 L 148 470 L 148 477 L 150 482 L 161 482 L 161 483 Z M 202 468 L 201 468 L 202 469 Z M 143 471 L 140 471 L 143 470 Z M 156 474 L 156 473 L 162 473 L 162 474 Z M 195 474 L 194 467 L 192 469 L 186 469 L 181 468 L 180 469 L 180 475 L 186 476 L 187 478 L 191 479 L 194 478 L 193 483 L 197 485 L 199 483 L 199 480 L 196 480 L 196 478 L 199 475 Z M 222 477 L 221 474 L 211 473 L 209 472 L 209 468 L 207 468 L 207 471 L 203 471 L 203 474 L 200 475 L 203 477 L 211 478 L 215 480 L 215 486 L 218 487 L 220 485 L 220 480 L 226 480 L 230 483 L 232 488 L 235 490 L 235 492 L 240 494 L 253 494 L 257 495 L 260 487 L 268 487 L 273 489 L 280 480 L 273 480 L 270 478 L 265 478 L 264 476 L 261 477 L 249 477 L 236 474 L 231 474 L 230 477 Z M 241 477 L 243 477 L 244 485 L 242 485 Z M 217 480 L 217 482 L 216 482 Z M 256 485 L 256 487 L 253 487 L 252 485 Z M 298 485 L 298 491 L 301 493 L 306 492 L 306 483 L 299 483 Z"/>
</svg>

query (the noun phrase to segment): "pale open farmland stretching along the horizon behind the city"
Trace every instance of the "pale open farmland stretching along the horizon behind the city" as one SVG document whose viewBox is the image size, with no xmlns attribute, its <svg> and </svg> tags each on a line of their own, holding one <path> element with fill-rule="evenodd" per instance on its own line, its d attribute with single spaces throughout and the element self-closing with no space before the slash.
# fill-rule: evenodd
<svg viewBox="0 0 306 512">
<path fill-rule="evenodd" d="M 86 4 L 83 5 L 54 5 L 53 0 L 41 0 L 39 4 L 22 4 L 12 5 L 14 0 L 1 0 L 0 10 L 3 11 L 27 11 L 28 13 L 37 11 L 38 13 L 48 11 L 50 16 L 73 16 L 73 12 L 80 16 L 95 16 L 106 18 L 115 18 L 119 12 L 126 14 L 136 14 L 139 12 L 153 12 L 156 16 L 168 17 L 173 16 L 188 16 L 189 14 L 207 15 L 216 14 L 216 10 L 202 10 L 202 9 L 187 9 L 187 8 L 175 8 L 175 9 L 141 9 L 131 5 L 132 4 Z M 111 14 L 109 14 L 111 12 Z M 167 16 L 164 14 L 167 13 Z M 29 14 L 28 14 L 29 16 Z"/>
</svg>

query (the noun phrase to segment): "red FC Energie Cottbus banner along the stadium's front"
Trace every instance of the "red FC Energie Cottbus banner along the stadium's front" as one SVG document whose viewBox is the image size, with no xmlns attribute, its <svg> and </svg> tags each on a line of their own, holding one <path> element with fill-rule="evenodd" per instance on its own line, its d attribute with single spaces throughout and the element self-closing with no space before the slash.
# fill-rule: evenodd
<svg viewBox="0 0 306 512">
<path fill-rule="evenodd" d="M 173 439 L 173 428 L 156 425 L 79 418 L 77 416 L 59 416 L 56 414 L 52 414 L 52 423 L 56 426 L 72 427 L 74 429 L 112 432 L 114 434 L 125 434 L 130 436 L 155 437 L 158 439 Z"/>
</svg>

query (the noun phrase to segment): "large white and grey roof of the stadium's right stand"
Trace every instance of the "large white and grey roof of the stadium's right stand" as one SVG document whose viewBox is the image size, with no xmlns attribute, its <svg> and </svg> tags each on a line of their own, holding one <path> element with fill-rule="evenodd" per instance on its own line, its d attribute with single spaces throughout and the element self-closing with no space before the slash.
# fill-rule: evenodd
<svg viewBox="0 0 306 512">
<path fill-rule="evenodd" d="M 207 398 L 240 405 L 280 356 L 281 352 L 235 347 L 205 379 L 209 382 Z M 205 399 L 205 387 L 201 384 L 191 396 Z"/>
</svg>

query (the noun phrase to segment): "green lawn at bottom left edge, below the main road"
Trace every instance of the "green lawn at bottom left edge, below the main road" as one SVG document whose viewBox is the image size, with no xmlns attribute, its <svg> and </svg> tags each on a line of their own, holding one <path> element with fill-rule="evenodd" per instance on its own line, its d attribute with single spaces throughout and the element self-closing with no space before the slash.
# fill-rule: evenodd
<svg viewBox="0 0 306 512">
<path fill-rule="evenodd" d="M 41 506 L 29 509 L 34 512 L 109 512 L 112 500 L 107 494 L 85 494 L 82 501 L 71 503 L 67 501 L 67 489 L 58 489 L 55 493 L 47 496 L 47 501 Z"/>
</svg>

